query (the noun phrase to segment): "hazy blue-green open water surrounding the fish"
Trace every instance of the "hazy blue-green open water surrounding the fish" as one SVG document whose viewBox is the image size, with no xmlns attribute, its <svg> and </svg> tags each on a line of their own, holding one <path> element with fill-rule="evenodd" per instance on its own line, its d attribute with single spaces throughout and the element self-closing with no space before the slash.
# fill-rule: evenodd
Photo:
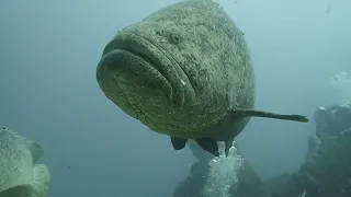
<svg viewBox="0 0 351 197">
<path fill-rule="evenodd" d="M 171 197 L 195 158 L 125 115 L 95 69 L 116 32 L 172 0 L 0 1 L 0 125 L 35 139 L 52 173 L 50 197 Z M 222 0 L 245 33 L 256 108 L 313 116 L 338 97 L 329 79 L 351 72 L 351 1 Z M 251 118 L 240 151 L 269 178 L 296 171 L 313 121 Z"/>
</svg>

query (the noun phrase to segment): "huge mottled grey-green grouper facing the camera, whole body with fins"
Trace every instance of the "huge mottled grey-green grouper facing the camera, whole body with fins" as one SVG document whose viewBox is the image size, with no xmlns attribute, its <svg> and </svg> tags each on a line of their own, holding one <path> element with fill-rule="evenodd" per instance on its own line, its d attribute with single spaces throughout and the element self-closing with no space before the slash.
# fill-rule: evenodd
<svg viewBox="0 0 351 197">
<path fill-rule="evenodd" d="M 211 0 L 181 1 L 127 26 L 105 46 L 97 69 L 115 105 L 176 150 L 194 139 L 219 155 L 250 117 L 308 121 L 254 111 L 254 76 L 242 33 Z"/>
</svg>

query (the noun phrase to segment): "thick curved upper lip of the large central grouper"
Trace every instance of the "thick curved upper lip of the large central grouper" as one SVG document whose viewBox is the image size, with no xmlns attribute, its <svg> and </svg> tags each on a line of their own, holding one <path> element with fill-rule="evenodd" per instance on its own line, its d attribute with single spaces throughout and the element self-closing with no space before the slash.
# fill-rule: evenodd
<svg viewBox="0 0 351 197">
<path fill-rule="evenodd" d="M 109 45 L 113 46 L 110 51 L 125 50 L 148 62 L 147 70 L 138 70 L 139 74 L 148 76 L 146 78 L 149 79 L 152 76 L 155 85 L 165 89 L 173 104 L 182 106 L 185 102 L 193 102 L 195 92 L 186 73 L 167 49 L 157 46 L 155 43 L 157 42 L 152 42 L 151 38 L 138 35 L 135 32 L 123 31 Z M 159 81 L 162 81 L 162 83 Z"/>
</svg>

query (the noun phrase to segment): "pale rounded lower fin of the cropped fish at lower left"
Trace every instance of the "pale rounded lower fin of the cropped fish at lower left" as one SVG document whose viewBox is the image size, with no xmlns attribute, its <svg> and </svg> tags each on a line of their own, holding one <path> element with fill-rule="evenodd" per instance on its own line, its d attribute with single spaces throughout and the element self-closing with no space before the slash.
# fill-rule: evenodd
<svg viewBox="0 0 351 197">
<path fill-rule="evenodd" d="M 47 197 L 50 173 L 44 164 L 34 165 L 31 197 Z"/>
</svg>

